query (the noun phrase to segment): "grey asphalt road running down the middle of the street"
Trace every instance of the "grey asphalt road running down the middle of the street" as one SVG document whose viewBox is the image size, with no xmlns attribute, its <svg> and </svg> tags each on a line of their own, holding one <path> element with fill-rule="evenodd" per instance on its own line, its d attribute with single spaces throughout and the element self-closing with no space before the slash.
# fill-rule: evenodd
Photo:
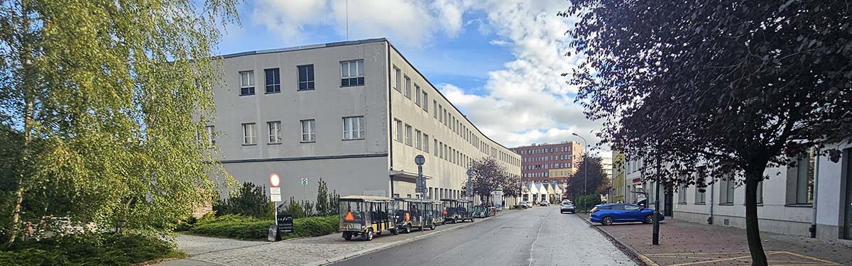
<svg viewBox="0 0 852 266">
<path fill-rule="evenodd" d="M 513 211 L 467 227 L 331 265 L 636 265 L 559 207 Z"/>
</svg>

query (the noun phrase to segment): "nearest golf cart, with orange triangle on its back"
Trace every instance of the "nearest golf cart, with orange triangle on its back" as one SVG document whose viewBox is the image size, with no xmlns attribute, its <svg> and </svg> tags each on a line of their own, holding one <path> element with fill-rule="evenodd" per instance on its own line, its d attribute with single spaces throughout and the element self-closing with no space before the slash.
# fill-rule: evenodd
<svg viewBox="0 0 852 266">
<path fill-rule="evenodd" d="M 396 226 L 390 219 L 394 199 L 379 196 L 352 195 L 340 197 L 340 231 L 343 239 L 363 236 L 367 241 L 374 234 L 382 234 L 388 230 L 397 234 Z"/>
</svg>

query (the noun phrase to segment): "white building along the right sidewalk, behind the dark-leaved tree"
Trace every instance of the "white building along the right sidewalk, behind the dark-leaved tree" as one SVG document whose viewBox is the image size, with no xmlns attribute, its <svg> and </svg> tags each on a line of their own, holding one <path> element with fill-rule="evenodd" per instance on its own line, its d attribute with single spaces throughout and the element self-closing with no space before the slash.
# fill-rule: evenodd
<svg viewBox="0 0 852 266">
<path fill-rule="evenodd" d="M 757 216 L 762 231 L 852 240 L 852 144 L 844 141 L 826 148 L 841 150 L 840 161 L 832 162 L 818 153 L 803 153 L 797 158 L 797 167 L 780 166 L 764 172 L 769 179 L 757 190 Z M 626 183 L 619 184 L 625 188 L 618 190 L 627 191 L 625 201 L 632 203 L 642 202 L 643 193 L 647 192 L 647 204 L 653 208 L 656 183 L 642 175 L 642 166 L 653 167 L 653 162 L 627 161 L 623 169 Z M 737 178 L 741 183 L 742 176 Z M 688 222 L 746 228 L 745 188 L 717 180 L 705 191 L 695 186 L 664 190 L 660 194 L 660 211 Z"/>
</svg>

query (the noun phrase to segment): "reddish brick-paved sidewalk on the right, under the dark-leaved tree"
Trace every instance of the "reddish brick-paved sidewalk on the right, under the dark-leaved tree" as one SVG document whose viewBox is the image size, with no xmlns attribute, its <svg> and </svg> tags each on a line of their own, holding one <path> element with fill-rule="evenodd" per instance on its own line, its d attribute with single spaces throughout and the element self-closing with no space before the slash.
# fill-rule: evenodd
<svg viewBox="0 0 852 266">
<path fill-rule="evenodd" d="M 589 216 L 579 214 L 587 222 Z M 703 266 L 751 263 L 746 230 L 688 223 L 667 218 L 659 225 L 659 246 L 651 245 L 653 227 L 642 223 L 602 226 L 603 233 L 629 246 L 649 265 Z M 770 265 L 852 265 L 852 247 L 838 241 L 817 240 L 761 232 Z"/>
</svg>

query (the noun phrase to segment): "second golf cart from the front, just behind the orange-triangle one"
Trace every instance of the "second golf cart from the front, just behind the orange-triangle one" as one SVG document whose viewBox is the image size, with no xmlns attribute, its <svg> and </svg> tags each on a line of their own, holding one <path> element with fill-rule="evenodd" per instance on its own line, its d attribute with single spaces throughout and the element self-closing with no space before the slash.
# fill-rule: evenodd
<svg viewBox="0 0 852 266">
<path fill-rule="evenodd" d="M 435 223 L 429 212 L 432 201 L 427 199 L 394 198 L 394 222 L 400 232 L 411 233 L 413 228 L 435 229 Z"/>
</svg>

